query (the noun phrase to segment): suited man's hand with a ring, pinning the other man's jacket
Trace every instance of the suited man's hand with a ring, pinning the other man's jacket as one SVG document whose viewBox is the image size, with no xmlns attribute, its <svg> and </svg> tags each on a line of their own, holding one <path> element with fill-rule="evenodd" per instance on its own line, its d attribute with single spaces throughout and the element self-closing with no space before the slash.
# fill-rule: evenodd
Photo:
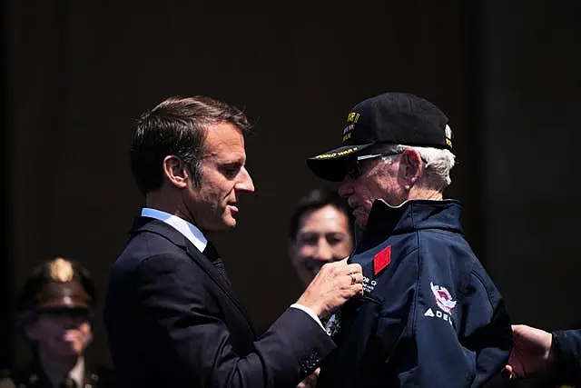
<svg viewBox="0 0 581 388">
<path fill-rule="evenodd" d="M 347 264 L 347 259 L 343 259 L 323 265 L 297 303 L 309 307 L 319 318 L 326 318 L 350 297 L 362 293 L 361 265 Z"/>
</svg>

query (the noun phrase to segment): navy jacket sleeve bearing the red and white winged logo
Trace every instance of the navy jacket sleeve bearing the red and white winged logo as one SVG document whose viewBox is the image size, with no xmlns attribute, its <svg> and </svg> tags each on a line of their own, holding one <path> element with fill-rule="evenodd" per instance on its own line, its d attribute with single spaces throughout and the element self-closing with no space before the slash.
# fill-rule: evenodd
<svg viewBox="0 0 581 388">
<path fill-rule="evenodd" d="M 464 298 L 457 277 L 445 266 L 421 266 L 394 365 L 400 386 L 478 387 L 506 364 L 507 313 L 478 281 Z"/>
</svg>

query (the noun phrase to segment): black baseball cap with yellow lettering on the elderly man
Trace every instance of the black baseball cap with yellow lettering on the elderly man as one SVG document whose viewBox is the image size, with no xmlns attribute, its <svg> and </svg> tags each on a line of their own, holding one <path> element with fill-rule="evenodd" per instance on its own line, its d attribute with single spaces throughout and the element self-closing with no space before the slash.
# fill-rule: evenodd
<svg viewBox="0 0 581 388">
<path fill-rule="evenodd" d="M 314 174 L 340 182 L 350 162 L 373 144 L 405 144 L 452 150 L 448 117 L 428 100 L 409 93 L 376 95 L 347 115 L 339 148 L 307 159 Z"/>
</svg>

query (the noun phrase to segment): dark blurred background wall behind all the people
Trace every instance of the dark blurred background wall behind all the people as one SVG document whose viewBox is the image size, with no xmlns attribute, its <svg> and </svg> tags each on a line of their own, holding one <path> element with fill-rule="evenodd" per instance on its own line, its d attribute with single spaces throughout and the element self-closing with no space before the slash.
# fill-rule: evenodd
<svg viewBox="0 0 581 388">
<path fill-rule="evenodd" d="M 237 229 L 214 239 L 258 326 L 300 294 L 288 219 L 301 194 L 327 185 L 304 159 L 340 144 L 350 107 L 386 91 L 424 96 L 450 117 L 459 164 L 448 196 L 465 205 L 468 241 L 514 319 L 547 329 L 581 320 L 575 3 L 3 6 L 4 365 L 25 357 L 9 329 L 34 264 L 77 259 L 103 293 L 143 204 L 128 163 L 133 121 L 169 95 L 223 99 L 255 123 L 257 192 L 242 199 Z M 94 328 L 90 356 L 110 363 L 100 315 Z"/>
</svg>

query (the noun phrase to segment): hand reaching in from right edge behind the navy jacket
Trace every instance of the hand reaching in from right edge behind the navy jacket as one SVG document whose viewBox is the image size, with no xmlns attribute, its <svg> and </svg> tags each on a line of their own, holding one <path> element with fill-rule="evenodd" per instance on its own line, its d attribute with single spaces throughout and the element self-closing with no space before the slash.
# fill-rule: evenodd
<svg viewBox="0 0 581 388">
<path fill-rule="evenodd" d="M 528 377 L 547 369 L 554 362 L 551 353 L 553 334 L 516 324 L 512 326 L 513 348 L 504 373 L 509 379 Z"/>
</svg>

